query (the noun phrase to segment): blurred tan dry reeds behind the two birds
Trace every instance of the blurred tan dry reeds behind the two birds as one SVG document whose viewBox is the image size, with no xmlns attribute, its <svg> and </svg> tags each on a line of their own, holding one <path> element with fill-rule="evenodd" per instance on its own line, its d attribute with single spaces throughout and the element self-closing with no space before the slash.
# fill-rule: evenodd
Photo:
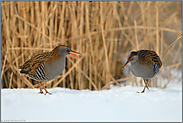
<svg viewBox="0 0 183 123">
<path fill-rule="evenodd" d="M 143 86 L 130 65 L 122 69 L 129 53 L 140 49 L 160 55 L 163 66 L 150 87 L 166 88 L 172 81 L 182 82 L 181 35 L 181 1 L 1 2 L 1 88 L 37 88 L 37 81 L 20 74 L 19 66 L 57 45 L 83 55 L 67 56 L 64 72 L 46 82 L 46 88 Z"/>
</svg>

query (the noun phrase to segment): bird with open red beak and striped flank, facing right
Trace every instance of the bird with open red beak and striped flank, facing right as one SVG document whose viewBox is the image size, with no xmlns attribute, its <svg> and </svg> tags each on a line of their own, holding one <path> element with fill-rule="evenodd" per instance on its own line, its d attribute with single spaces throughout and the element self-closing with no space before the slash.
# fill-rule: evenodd
<svg viewBox="0 0 183 123">
<path fill-rule="evenodd" d="M 43 94 L 41 84 L 46 92 L 50 94 L 43 81 L 49 81 L 60 75 L 65 68 L 65 61 L 67 55 L 80 54 L 79 52 L 73 51 L 65 45 L 59 45 L 55 47 L 51 52 L 43 52 L 37 54 L 26 61 L 22 66 L 20 66 L 20 73 L 28 75 L 33 80 L 38 81 L 40 88 L 40 94 Z"/>
</svg>

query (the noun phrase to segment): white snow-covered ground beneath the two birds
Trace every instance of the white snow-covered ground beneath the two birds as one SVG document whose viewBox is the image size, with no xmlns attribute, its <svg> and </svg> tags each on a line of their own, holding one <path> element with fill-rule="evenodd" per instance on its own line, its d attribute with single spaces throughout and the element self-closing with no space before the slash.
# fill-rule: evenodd
<svg viewBox="0 0 183 123">
<path fill-rule="evenodd" d="M 166 89 L 116 87 L 110 90 L 1 89 L 1 121 L 182 121 L 182 83 Z"/>
</svg>

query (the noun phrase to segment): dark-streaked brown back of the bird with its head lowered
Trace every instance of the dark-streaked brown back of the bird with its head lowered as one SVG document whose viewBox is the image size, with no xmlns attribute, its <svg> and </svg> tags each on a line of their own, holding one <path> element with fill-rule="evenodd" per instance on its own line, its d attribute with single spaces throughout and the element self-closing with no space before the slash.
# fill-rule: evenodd
<svg viewBox="0 0 183 123">
<path fill-rule="evenodd" d="M 152 50 L 139 50 L 137 51 L 138 57 L 140 60 L 138 60 L 138 62 L 141 62 L 142 64 L 147 64 L 150 65 L 151 61 L 154 61 L 159 68 L 161 68 L 162 66 L 162 62 L 161 59 L 159 58 L 159 56 L 156 54 L 155 51 Z"/>
</svg>

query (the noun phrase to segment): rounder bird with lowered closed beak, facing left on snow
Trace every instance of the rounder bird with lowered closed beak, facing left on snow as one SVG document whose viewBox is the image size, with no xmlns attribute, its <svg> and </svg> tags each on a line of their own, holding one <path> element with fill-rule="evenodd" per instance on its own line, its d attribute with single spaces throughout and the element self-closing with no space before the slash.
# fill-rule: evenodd
<svg viewBox="0 0 183 123">
<path fill-rule="evenodd" d="M 131 63 L 131 72 L 133 75 L 141 77 L 144 80 L 145 86 L 141 93 L 145 92 L 145 88 L 149 90 L 149 79 L 156 76 L 162 66 L 162 61 L 157 53 L 152 50 L 132 51 L 122 68 L 128 63 Z"/>
</svg>

